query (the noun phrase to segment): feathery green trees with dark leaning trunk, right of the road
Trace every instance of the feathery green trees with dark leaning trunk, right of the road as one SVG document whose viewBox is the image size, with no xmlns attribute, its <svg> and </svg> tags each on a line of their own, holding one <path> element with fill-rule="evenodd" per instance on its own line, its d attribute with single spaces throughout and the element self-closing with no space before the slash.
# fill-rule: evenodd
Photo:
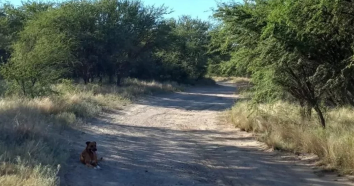
<svg viewBox="0 0 354 186">
<path fill-rule="evenodd" d="M 219 48 L 225 50 L 228 42 L 234 47 L 226 47 L 231 60 L 219 66 L 251 73 L 256 102 L 291 95 L 314 108 L 324 126 L 324 105 L 354 105 L 353 5 L 346 0 L 220 4 L 214 16 L 231 41 L 222 40 Z"/>
</svg>

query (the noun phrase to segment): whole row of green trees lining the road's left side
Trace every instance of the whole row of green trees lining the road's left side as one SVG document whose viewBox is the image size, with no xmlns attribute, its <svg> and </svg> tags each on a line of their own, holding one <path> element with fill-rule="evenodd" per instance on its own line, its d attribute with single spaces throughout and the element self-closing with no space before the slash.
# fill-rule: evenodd
<svg viewBox="0 0 354 186">
<path fill-rule="evenodd" d="M 3 4 L 1 75 L 11 93 L 29 96 L 52 93 L 61 78 L 108 77 L 118 86 L 126 77 L 198 80 L 207 71 L 209 24 L 187 16 L 166 20 L 167 13 L 139 0 Z"/>
</svg>

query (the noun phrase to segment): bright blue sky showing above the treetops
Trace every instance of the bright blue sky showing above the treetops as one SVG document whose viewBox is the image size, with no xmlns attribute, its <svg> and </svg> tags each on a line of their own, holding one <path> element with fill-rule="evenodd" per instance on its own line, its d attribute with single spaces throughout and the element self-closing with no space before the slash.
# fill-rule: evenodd
<svg viewBox="0 0 354 186">
<path fill-rule="evenodd" d="M 1 0 L 0 0 L 1 1 Z M 6 0 L 2 0 L 6 1 Z M 180 15 L 191 15 L 207 21 L 212 15 L 210 8 L 215 8 L 217 2 L 227 2 L 230 0 L 142 0 L 147 5 L 162 5 L 172 8 L 175 12 L 167 15 L 166 18 L 178 18 Z M 240 1 L 240 0 L 236 0 Z M 21 0 L 9 0 L 12 4 L 21 5 Z"/>
</svg>

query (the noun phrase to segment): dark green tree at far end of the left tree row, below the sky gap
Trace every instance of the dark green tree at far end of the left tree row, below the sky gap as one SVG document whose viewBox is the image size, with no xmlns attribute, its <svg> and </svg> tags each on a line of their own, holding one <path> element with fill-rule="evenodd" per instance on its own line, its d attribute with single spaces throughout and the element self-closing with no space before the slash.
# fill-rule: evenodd
<svg viewBox="0 0 354 186">
<path fill-rule="evenodd" d="M 172 29 L 169 46 L 157 53 L 165 62 L 160 74 L 178 82 L 204 77 L 207 72 L 209 24 L 182 16 L 179 20 L 170 20 L 169 25 Z"/>
</svg>

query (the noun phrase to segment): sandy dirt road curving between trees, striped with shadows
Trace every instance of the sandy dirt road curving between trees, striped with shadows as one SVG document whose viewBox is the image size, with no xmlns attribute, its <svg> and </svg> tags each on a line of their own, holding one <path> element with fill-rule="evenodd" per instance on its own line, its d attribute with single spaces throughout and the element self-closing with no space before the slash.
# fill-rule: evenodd
<svg viewBox="0 0 354 186">
<path fill-rule="evenodd" d="M 78 133 L 63 186 L 351 186 L 260 150 L 252 135 L 221 125 L 235 86 L 150 96 L 105 114 Z M 79 163 L 97 141 L 102 170 Z"/>
</svg>

